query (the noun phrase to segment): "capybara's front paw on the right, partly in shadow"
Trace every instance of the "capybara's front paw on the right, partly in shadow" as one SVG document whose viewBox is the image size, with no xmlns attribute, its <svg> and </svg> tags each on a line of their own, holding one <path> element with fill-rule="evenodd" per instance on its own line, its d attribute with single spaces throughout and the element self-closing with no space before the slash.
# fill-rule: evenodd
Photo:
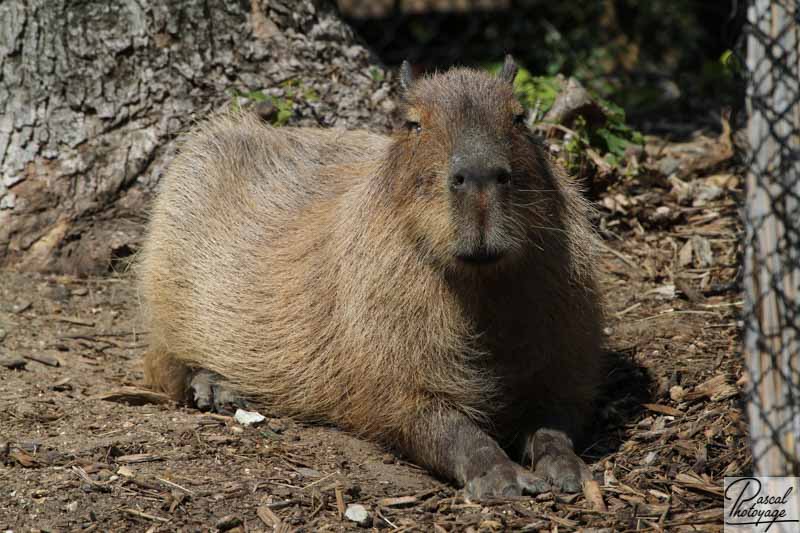
<svg viewBox="0 0 800 533">
<path fill-rule="evenodd" d="M 562 431 L 540 429 L 530 438 L 533 472 L 564 492 L 580 492 L 592 472 L 578 457 L 572 440 Z"/>
</svg>

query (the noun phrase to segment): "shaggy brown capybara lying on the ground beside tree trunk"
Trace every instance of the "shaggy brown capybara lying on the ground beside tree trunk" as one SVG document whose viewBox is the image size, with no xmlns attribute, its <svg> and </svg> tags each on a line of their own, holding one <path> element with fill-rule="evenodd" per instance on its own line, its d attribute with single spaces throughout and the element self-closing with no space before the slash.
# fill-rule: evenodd
<svg viewBox="0 0 800 533">
<path fill-rule="evenodd" d="M 391 136 L 247 114 L 188 134 L 139 261 L 149 384 L 333 423 L 473 498 L 579 490 L 605 375 L 595 241 L 516 71 L 405 65 Z"/>
</svg>

